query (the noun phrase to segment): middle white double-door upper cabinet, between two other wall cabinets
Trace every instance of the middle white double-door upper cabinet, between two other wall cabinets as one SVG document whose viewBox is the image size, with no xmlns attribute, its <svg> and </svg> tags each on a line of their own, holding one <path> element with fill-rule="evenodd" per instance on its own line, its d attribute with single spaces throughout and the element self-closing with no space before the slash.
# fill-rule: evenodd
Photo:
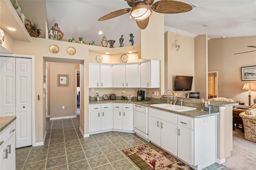
<svg viewBox="0 0 256 170">
<path fill-rule="evenodd" d="M 112 66 L 113 87 L 138 88 L 139 64 L 117 64 Z"/>
</svg>

